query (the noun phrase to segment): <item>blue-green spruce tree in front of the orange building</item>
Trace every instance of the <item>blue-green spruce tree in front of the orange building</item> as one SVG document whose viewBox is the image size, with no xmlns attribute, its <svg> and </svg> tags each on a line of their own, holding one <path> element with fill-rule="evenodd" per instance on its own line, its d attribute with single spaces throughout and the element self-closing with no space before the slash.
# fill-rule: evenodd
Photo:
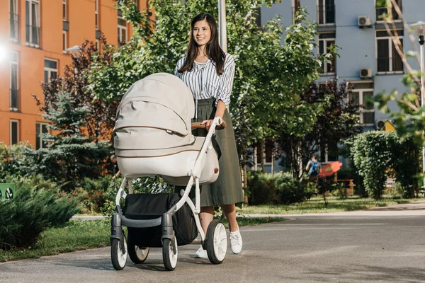
<svg viewBox="0 0 425 283">
<path fill-rule="evenodd" d="M 50 133 L 41 134 L 46 147 L 27 149 L 23 170 L 26 175 L 41 174 L 45 179 L 64 183 L 69 189 L 85 178 L 97 178 L 111 155 L 109 141 L 97 141 L 84 134 L 86 106 L 75 107 L 76 101 L 67 91 L 59 91 L 57 100 L 45 108 L 42 117 L 50 122 Z"/>
</svg>

